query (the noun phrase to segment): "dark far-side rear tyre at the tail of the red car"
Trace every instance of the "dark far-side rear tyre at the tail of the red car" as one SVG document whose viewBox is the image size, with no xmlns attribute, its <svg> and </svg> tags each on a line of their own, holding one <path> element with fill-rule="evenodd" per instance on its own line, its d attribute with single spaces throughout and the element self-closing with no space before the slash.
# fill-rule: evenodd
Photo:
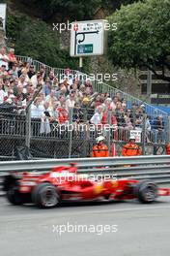
<svg viewBox="0 0 170 256">
<path fill-rule="evenodd" d="M 7 199 L 14 206 L 20 206 L 23 204 L 22 195 L 19 193 L 16 183 L 9 185 L 7 190 Z"/>
</svg>

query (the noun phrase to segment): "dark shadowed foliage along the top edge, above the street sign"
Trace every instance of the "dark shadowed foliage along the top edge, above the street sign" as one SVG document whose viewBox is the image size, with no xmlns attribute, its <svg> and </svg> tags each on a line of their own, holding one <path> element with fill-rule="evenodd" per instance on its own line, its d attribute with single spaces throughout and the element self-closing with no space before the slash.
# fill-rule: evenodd
<svg viewBox="0 0 170 256">
<path fill-rule="evenodd" d="M 26 6 L 36 7 L 42 20 L 48 21 L 58 16 L 61 21 L 70 18 L 74 20 L 93 19 L 99 7 L 111 12 L 119 9 L 122 4 L 131 4 L 139 0 L 20 0 Z"/>
</svg>

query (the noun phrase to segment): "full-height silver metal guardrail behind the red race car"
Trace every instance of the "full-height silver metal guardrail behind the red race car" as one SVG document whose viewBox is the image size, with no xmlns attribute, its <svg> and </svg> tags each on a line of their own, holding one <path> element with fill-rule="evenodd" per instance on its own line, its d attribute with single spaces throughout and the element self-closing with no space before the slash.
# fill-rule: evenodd
<svg viewBox="0 0 170 256">
<path fill-rule="evenodd" d="M 76 163 L 79 174 L 93 176 L 114 175 L 117 178 L 152 179 L 156 183 L 170 183 L 170 156 L 42 159 L 0 162 L 0 177 L 9 172 L 46 172 L 57 166 Z"/>
</svg>

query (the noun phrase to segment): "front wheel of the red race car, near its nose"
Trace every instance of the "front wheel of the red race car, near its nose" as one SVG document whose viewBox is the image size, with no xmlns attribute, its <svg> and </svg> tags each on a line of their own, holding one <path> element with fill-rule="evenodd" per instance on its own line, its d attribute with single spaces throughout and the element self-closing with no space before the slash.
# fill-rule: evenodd
<svg viewBox="0 0 170 256">
<path fill-rule="evenodd" d="M 134 196 L 143 204 L 156 201 L 158 187 L 155 182 L 143 180 L 134 187 Z"/>
</svg>

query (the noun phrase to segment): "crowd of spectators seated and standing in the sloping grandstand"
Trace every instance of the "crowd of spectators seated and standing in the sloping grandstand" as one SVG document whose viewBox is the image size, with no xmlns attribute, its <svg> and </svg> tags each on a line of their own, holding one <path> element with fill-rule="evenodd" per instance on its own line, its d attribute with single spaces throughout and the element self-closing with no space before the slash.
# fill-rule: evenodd
<svg viewBox="0 0 170 256">
<path fill-rule="evenodd" d="M 34 98 L 39 89 L 39 95 Z M 120 92 L 113 97 L 109 93 L 97 93 L 91 80 L 80 80 L 69 68 L 62 76 L 55 76 L 53 71 L 47 73 L 45 66 L 36 71 L 31 63 L 19 61 L 13 48 L 8 53 L 6 48 L 0 48 L 0 108 L 13 105 L 17 114 L 24 115 L 33 99 L 31 117 L 41 122 L 40 134 L 49 134 L 52 123 L 67 124 L 71 118 L 70 108 L 73 108 L 74 124 L 113 125 L 115 141 L 120 137 L 124 141 L 126 131 L 142 131 L 144 126 L 148 142 L 151 131 L 155 131 L 156 138 L 164 133 L 161 115 L 144 117 L 145 105 L 134 103 L 128 108 Z"/>
</svg>

